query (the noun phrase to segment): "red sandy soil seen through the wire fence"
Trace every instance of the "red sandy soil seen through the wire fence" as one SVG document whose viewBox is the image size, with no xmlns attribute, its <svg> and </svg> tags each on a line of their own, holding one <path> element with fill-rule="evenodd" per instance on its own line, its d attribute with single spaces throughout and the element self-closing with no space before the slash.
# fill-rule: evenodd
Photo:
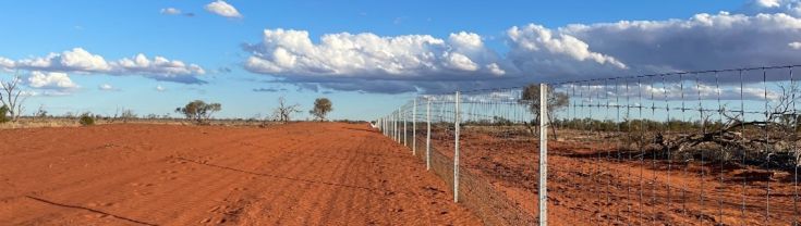
<svg viewBox="0 0 801 226">
<path fill-rule="evenodd" d="M 433 142 L 452 156 L 452 138 L 436 137 Z M 617 155 L 600 148 L 611 146 L 549 141 L 551 225 L 801 224 L 801 200 L 793 203 L 801 188 L 793 185 L 788 172 L 628 160 L 628 153 Z M 464 129 L 461 147 L 466 171 L 484 176 L 536 215 L 539 160 L 534 137 Z"/>
</svg>

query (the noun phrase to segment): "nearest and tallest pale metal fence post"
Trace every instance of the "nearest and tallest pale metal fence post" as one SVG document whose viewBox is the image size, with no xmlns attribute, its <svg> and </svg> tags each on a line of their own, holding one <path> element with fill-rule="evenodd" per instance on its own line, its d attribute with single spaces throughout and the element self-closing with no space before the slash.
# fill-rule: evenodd
<svg viewBox="0 0 801 226">
<path fill-rule="evenodd" d="M 548 225 L 548 86 L 539 84 L 539 225 Z"/>
</svg>

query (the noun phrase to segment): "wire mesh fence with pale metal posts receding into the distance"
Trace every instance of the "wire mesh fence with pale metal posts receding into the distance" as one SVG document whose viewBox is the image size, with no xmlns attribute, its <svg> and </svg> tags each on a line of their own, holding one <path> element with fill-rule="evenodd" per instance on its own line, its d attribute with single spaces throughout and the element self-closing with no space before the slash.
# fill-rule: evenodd
<svg viewBox="0 0 801 226">
<path fill-rule="evenodd" d="M 462 91 L 379 120 L 488 225 L 801 225 L 798 66 Z M 541 104 L 544 102 L 544 104 Z M 541 108 L 547 111 L 541 113 Z"/>
</svg>

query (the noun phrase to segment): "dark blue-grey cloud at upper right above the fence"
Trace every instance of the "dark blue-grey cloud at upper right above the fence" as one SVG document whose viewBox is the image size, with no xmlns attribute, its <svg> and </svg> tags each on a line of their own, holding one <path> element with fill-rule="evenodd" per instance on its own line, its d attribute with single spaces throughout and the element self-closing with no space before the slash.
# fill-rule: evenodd
<svg viewBox="0 0 801 226">
<path fill-rule="evenodd" d="M 659 73 L 798 63 L 798 51 L 787 43 L 801 37 L 801 20 L 782 13 L 720 12 L 689 20 L 570 25 L 559 30 L 626 62 L 634 72 Z M 575 75 L 581 74 L 592 76 L 588 72 Z"/>
</svg>

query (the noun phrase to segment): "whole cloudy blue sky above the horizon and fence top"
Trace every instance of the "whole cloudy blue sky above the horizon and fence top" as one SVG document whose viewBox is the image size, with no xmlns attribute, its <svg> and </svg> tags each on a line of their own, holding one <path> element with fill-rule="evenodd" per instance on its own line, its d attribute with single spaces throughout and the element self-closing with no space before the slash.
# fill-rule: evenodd
<svg viewBox="0 0 801 226">
<path fill-rule="evenodd" d="M 162 115 L 202 99 L 222 103 L 219 117 L 252 117 L 268 115 L 277 98 L 284 96 L 304 110 L 315 98 L 328 97 L 335 105 L 332 118 L 369 120 L 417 93 L 557 78 L 798 63 L 792 55 L 801 53 L 797 1 L 224 1 L 239 13 L 234 16 L 209 9 L 213 2 L 2 1 L 0 20 L 7 23 L 0 25 L 0 60 L 14 64 L 5 70 L 0 64 L 0 76 L 8 79 L 16 71 L 26 89 L 35 93 L 27 99 L 26 114 L 43 105 L 53 114 L 113 114 L 126 108 L 141 115 Z M 171 14 L 168 9 L 180 13 Z M 702 13 L 707 17 L 699 16 Z M 770 17 L 758 17 L 760 13 Z M 626 24 L 620 21 L 664 26 L 620 28 Z M 731 21 L 742 24 L 731 26 Z M 681 23 L 693 29 L 671 30 L 682 27 Z M 571 24 L 585 28 L 571 28 Z M 618 29 L 611 28 L 615 26 Z M 767 29 L 772 26 L 778 28 Z M 772 38 L 749 40 L 737 32 L 742 29 Z M 274 36 L 267 38 L 265 30 Z M 462 32 L 463 36 L 452 35 Z M 311 46 L 295 41 L 304 35 Z M 337 43 L 375 48 L 355 51 L 319 45 L 326 35 L 339 35 L 332 36 Z M 542 41 L 543 37 L 550 39 Z M 679 38 L 691 43 L 659 49 L 676 45 Z M 468 46 L 460 40 L 481 43 Z M 420 45 L 414 46 L 420 49 L 408 53 L 409 46 L 400 45 L 402 41 Z M 738 48 L 715 46 L 721 41 Z M 101 56 L 107 67 L 21 63 L 51 53 L 63 60 L 75 48 Z M 284 50 L 290 56 L 278 54 Z M 705 54 L 720 51 L 726 54 L 718 61 Z M 375 56 L 386 52 L 395 56 Z M 137 54 L 151 62 L 157 55 L 180 61 L 185 72 L 111 63 L 134 60 Z M 643 54 L 662 56 L 643 59 Z M 692 55 L 700 59 L 688 62 Z M 747 60 L 754 58 L 763 60 Z M 292 63 L 283 63 L 287 59 Z M 354 63 L 357 60 L 366 63 Z M 43 73 L 34 78 L 34 72 Z M 59 84 L 64 76 L 52 73 L 65 74 L 71 83 Z"/>
</svg>

